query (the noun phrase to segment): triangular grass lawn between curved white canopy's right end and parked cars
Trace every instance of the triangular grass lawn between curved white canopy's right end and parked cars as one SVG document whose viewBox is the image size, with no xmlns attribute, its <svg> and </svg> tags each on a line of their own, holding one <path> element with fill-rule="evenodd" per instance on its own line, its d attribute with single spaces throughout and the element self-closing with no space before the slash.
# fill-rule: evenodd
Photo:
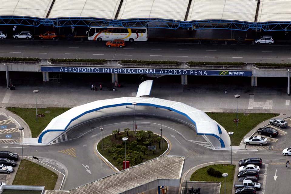
<svg viewBox="0 0 291 194">
<path fill-rule="evenodd" d="M 239 146 L 243 137 L 250 130 L 259 125 L 259 123 L 279 115 L 266 113 L 238 113 L 239 123 L 236 127 L 236 122 L 233 122 L 233 120 L 236 119 L 236 113 L 206 112 L 206 114 L 222 125 L 227 132 L 234 132 L 232 136 L 232 146 Z"/>
</svg>

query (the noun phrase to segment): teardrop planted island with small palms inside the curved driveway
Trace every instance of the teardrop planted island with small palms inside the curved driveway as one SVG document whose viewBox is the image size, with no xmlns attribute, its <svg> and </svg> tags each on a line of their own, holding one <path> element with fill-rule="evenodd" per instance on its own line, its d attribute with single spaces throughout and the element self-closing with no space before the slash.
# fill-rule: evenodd
<svg viewBox="0 0 291 194">
<path fill-rule="evenodd" d="M 122 137 L 128 137 L 126 141 L 126 160 L 130 161 L 130 166 L 135 166 L 147 160 L 156 158 L 164 153 L 168 149 L 168 144 L 165 141 L 163 143 L 163 149 L 159 149 L 160 136 L 156 134 L 151 134 L 151 146 L 156 146 L 156 152 L 153 150 L 147 150 L 145 145 L 146 141 L 149 140 L 149 134 L 143 132 L 144 136 L 141 140 L 136 141 L 137 138 L 134 136 L 133 131 L 129 131 L 127 136 L 125 132 L 120 132 L 115 136 L 109 135 L 103 138 L 103 151 L 101 149 L 101 141 L 97 145 L 98 151 L 117 169 L 121 170 L 124 161 L 124 142 L 122 142 Z M 135 143 L 133 143 L 135 142 Z"/>
</svg>

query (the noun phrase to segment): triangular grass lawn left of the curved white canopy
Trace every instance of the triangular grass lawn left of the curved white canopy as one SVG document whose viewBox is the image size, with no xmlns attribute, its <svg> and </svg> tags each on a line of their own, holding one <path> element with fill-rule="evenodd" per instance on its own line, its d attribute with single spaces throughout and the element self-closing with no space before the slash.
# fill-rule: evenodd
<svg viewBox="0 0 291 194">
<path fill-rule="evenodd" d="M 46 108 L 37 109 L 38 114 L 44 114 L 44 117 L 38 117 L 36 122 L 35 108 L 6 108 L 7 110 L 20 116 L 29 125 L 32 137 L 37 137 L 49 122 L 56 116 L 66 112 L 70 108 Z M 46 113 L 47 112 L 47 113 Z"/>
</svg>

